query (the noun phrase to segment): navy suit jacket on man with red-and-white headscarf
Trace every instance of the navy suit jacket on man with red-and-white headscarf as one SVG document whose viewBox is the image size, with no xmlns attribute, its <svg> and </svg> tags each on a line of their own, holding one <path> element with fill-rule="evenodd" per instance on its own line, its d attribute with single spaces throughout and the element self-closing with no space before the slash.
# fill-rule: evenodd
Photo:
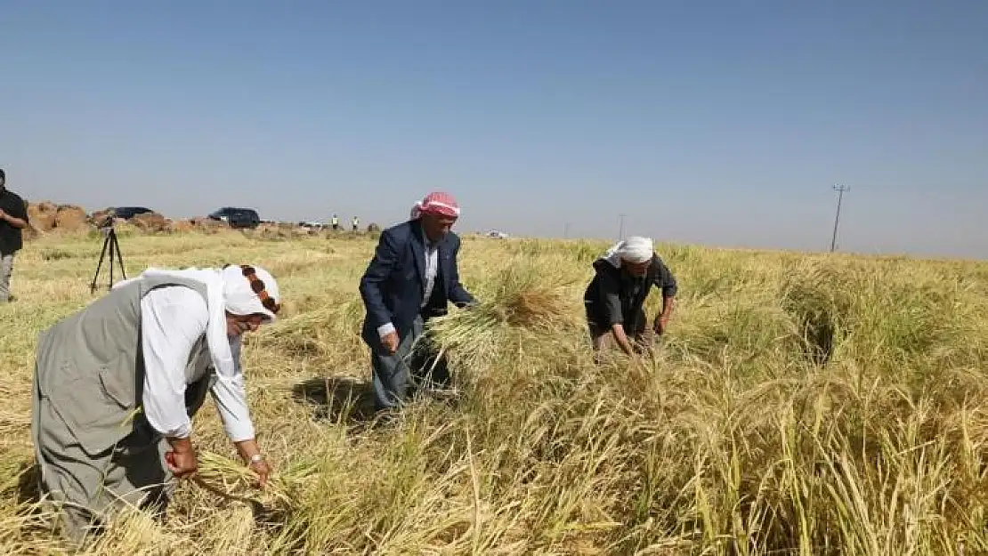
<svg viewBox="0 0 988 556">
<path fill-rule="evenodd" d="M 445 309 L 452 301 L 457 306 L 475 303 L 473 296 L 459 283 L 456 255 L 459 237 L 453 232 L 439 243 L 439 273 L 433 285 L 433 300 Z M 422 223 L 409 220 L 387 228 L 380 234 L 377 249 L 364 277 L 361 297 L 367 309 L 361 336 L 371 347 L 380 346 L 377 327 L 390 322 L 404 338 L 421 312 L 425 294 L 426 250 Z M 440 281 L 439 278 L 442 278 Z"/>
</svg>

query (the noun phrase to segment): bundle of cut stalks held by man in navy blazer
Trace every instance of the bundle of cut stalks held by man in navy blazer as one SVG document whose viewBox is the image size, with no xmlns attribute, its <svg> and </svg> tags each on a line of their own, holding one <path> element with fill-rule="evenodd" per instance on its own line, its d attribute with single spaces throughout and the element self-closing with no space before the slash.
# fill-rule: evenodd
<svg viewBox="0 0 988 556">
<path fill-rule="evenodd" d="M 505 268 L 490 290 L 478 292 L 479 303 L 429 321 L 428 339 L 441 354 L 478 364 L 517 344 L 512 340 L 573 326 L 572 280 L 553 274 L 550 266 L 525 260 L 509 262 Z"/>
</svg>

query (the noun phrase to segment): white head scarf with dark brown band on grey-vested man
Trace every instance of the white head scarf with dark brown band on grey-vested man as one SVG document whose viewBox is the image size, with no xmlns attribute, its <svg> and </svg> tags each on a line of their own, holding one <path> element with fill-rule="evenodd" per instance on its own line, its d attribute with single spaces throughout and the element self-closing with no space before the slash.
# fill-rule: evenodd
<svg viewBox="0 0 988 556">
<path fill-rule="evenodd" d="M 275 302 L 282 302 L 278 282 L 268 271 L 252 266 L 257 278 L 264 281 L 268 295 Z M 216 374 L 221 379 L 229 379 L 236 373 L 233 354 L 230 351 L 230 340 L 226 335 L 226 311 L 234 315 L 250 315 L 259 313 L 268 321 L 275 321 L 277 316 L 261 304 L 261 298 L 251 289 L 250 280 L 243 275 L 238 265 L 230 265 L 223 269 L 185 269 L 173 271 L 167 269 L 149 268 L 136 278 L 129 278 L 114 284 L 114 289 L 141 278 L 186 278 L 202 282 L 206 285 L 206 307 L 209 320 L 206 324 L 206 343 Z"/>
</svg>

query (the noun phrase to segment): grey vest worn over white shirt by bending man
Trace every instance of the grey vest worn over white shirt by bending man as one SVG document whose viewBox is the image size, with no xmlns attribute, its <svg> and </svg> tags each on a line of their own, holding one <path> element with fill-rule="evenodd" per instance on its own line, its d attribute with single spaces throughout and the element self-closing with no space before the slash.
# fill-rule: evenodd
<svg viewBox="0 0 988 556">
<path fill-rule="evenodd" d="M 124 437 L 157 437 L 139 415 L 144 385 L 140 300 L 167 285 L 184 285 L 206 298 L 206 286 L 182 278 L 145 278 L 97 299 L 42 332 L 36 380 L 66 428 L 87 453 L 96 455 Z M 190 417 L 205 400 L 213 373 L 203 335 L 186 364 L 186 409 Z M 195 380 L 195 377 L 201 379 Z M 132 443 L 132 442 L 129 442 Z"/>
</svg>

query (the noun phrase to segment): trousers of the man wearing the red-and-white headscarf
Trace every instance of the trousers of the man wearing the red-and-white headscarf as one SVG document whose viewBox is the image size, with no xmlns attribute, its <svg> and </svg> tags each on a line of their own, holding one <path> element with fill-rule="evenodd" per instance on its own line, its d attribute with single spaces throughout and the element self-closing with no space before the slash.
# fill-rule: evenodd
<svg viewBox="0 0 988 556">
<path fill-rule="evenodd" d="M 446 357 L 423 336 L 424 321 L 417 317 L 412 329 L 399 339 L 398 350 L 388 354 L 382 346 L 371 350 L 373 397 L 376 409 L 394 409 L 424 387 L 447 387 L 450 371 Z"/>
</svg>

